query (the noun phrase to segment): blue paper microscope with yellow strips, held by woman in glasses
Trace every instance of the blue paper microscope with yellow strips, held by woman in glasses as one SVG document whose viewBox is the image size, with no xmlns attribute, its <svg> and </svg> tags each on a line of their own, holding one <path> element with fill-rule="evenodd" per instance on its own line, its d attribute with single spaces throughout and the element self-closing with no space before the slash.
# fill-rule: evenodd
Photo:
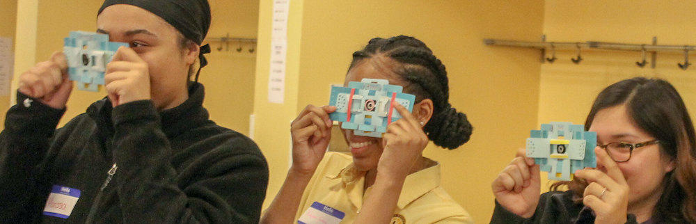
<svg viewBox="0 0 696 224">
<path fill-rule="evenodd" d="M 527 138 L 527 157 L 534 158 L 548 179 L 571 180 L 576 170 L 596 167 L 594 147 L 597 134 L 585 131 L 583 125 L 570 122 L 551 122 L 541 130 L 530 131 Z"/>
</svg>

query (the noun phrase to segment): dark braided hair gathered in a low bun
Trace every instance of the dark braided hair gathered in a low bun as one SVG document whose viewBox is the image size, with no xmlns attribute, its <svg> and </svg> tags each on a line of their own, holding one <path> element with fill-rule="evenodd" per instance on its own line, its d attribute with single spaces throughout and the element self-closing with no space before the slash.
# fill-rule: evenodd
<svg viewBox="0 0 696 224">
<path fill-rule="evenodd" d="M 373 38 L 364 49 L 353 53 L 349 70 L 363 59 L 378 54 L 399 63 L 393 72 L 408 83 L 404 86 L 405 93 L 416 95 L 416 102 L 422 99 L 433 101 L 433 116 L 423 129 L 435 145 L 453 150 L 469 141 L 473 127 L 464 113 L 457 112 L 450 105 L 445 65 L 425 43 L 406 35 Z"/>
</svg>

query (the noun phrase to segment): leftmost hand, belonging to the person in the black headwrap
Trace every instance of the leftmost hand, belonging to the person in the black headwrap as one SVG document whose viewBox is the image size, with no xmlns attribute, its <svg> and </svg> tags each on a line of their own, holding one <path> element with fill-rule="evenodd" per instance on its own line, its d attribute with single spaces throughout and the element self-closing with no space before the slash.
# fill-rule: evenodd
<svg viewBox="0 0 696 224">
<path fill-rule="evenodd" d="M 22 73 L 18 90 L 54 109 L 64 109 L 72 91 L 65 54 L 56 51 L 49 61 L 40 62 Z"/>
</svg>

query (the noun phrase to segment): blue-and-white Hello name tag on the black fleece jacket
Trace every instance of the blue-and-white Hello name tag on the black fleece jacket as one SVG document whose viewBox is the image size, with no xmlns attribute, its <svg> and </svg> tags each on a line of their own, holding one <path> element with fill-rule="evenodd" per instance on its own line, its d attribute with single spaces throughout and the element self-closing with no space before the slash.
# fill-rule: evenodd
<svg viewBox="0 0 696 224">
<path fill-rule="evenodd" d="M 54 185 L 46 200 L 44 215 L 58 218 L 68 218 L 72 214 L 77 200 L 80 198 L 80 190 L 67 186 Z"/>
</svg>

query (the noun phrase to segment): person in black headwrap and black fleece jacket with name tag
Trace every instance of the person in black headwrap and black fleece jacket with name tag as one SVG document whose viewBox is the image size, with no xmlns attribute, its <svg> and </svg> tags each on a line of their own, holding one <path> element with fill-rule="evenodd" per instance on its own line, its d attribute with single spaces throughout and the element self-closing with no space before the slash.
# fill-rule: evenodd
<svg viewBox="0 0 696 224">
<path fill-rule="evenodd" d="M 209 24 L 206 0 L 106 0 L 97 32 L 129 47 L 106 67 L 108 97 L 61 129 L 65 56 L 24 72 L 0 134 L 0 223 L 258 222 L 267 163 L 191 81 Z"/>
</svg>

